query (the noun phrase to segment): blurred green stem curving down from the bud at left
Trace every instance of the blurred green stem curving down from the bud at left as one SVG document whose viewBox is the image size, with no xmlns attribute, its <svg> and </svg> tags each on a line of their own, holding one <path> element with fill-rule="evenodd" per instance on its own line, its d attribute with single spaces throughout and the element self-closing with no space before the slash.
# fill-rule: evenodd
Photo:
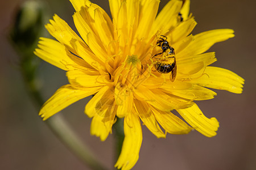
<svg viewBox="0 0 256 170">
<path fill-rule="evenodd" d="M 43 105 L 42 95 L 38 91 L 38 87 L 35 83 L 34 74 L 27 72 L 27 63 L 22 61 L 22 73 L 24 82 L 27 85 L 27 89 L 30 92 L 31 97 L 34 98 L 36 105 L 41 107 Z M 30 70 L 31 71 L 31 70 Z M 88 165 L 91 169 L 100 170 L 107 169 L 95 159 L 95 156 L 90 151 L 89 147 L 85 145 L 84 142 L 81 142 L 79 137 L 75 134 L 75 132 L 68 126 L 67 122 L 60 115 L 56 115 L 54 117 L 49 118 L 46 122 L 49 129 L 56 135 L 59 140 L 64 143 L 65 146 L 69 148 L 82 162 Z"/>
</svg>

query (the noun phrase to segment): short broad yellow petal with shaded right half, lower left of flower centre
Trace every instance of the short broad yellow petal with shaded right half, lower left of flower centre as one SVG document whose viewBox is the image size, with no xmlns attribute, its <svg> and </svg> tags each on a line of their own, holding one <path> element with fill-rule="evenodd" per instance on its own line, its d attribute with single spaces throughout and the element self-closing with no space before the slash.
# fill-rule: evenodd
<svg viewBox="0 0 256 170">
<path fill-rule="evenodd" d="M 112 110 L 114 103 L 114 88 L 104 86 L 96 95 L 90 99 L 85 106 L 85 113 L 88 117 L 98 114 L 101 117 L 110 117 L 109 110 Z"/>
</svg>

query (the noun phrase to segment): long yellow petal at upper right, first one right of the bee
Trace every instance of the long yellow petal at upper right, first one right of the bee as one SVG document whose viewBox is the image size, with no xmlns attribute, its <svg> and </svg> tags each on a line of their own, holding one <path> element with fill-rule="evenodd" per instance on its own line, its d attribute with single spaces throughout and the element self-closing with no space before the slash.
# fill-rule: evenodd
<svg viewBox="0 0 256 170">
<path fill-rule="evenodd" d="M 213 29 L 195 35 L 195 40 L 192 41 L 187 48 L 179 53 L 179 56 L 195 56 L 206 52 L 216 42 L 221 42 L 234 37 L 232 29 Z"/>
</svg>

